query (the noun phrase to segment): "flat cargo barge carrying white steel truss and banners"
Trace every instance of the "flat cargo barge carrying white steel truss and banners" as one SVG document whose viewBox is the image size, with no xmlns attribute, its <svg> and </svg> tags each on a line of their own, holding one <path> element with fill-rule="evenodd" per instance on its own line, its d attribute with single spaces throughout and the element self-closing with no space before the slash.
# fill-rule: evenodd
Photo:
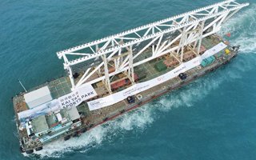
<svg viewBox="0 0 256 160">
<path fill-rule="evenodd" d="M 67 75 L 13 98 L 21 151 L 78 137 L 230 62 L 239 46 L 216 33 L 248 5 L 219 2 L 58 52 Z"/>
</svg>

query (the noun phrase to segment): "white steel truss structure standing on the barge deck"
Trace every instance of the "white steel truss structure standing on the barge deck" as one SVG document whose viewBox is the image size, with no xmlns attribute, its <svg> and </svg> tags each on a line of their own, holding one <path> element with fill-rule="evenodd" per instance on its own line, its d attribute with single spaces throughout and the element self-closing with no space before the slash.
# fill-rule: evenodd
<svg viewBox="0 0 256 160">
<path fill-rule="evenodd" d="M 218 32 L 223 22 L 248 5 L 235 0 L 219 2 L 62 50 L 57 55 L 64 60 L 64 69 L 69 74 L 72 90 L 83 84 L 102 81 L 111 93 L 110 81 L 115 74 L 122 72 L 134 83 L 134 66 L 164 54 L 170 54 L 178 62 L 183 62 L 184 47 L 196 49 L 194 54 L 198 54 L 202 38 Z M 146 50 L 150 52 L 138 58 Z M 81 70 L 77 69 L 79 67 Z M 77 71 L 82 75 L 74 80 Z M 95 77 L 95 74 L 98 76 Z"/>
</svg>

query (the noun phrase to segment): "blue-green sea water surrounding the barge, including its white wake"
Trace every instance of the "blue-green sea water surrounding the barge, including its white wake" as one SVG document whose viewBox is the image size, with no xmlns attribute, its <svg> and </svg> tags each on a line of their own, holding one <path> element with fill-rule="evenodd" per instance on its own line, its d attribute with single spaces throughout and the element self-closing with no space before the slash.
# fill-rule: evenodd
<svg viewBox="0 0 256 160">
<path fill-rule="evenodd" d="M 0 159 L 255 159 L 256 2 L 222 27 L 230 64 L 64 142 L 21 154 L 11 97 L 64 74 L 56 52 L 219 1 L 0 2 Z M 227 37 L 226 37 L 227 38 Z"/>
</svg>

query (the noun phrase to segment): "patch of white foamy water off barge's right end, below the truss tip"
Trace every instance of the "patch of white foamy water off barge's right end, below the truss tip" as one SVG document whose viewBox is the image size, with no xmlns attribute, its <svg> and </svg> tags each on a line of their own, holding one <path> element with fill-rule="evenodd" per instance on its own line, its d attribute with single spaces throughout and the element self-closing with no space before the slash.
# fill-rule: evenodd
<svg viewBox="0 0 256 160">
<path fill-rule="evenodd" d="M 223 26 L 220 34 L 231 33 L 230 42 L 240 45 L 241 53 L 256 52 L 256 4 L 251 4 L 248 9 L 238 12 Z"/>
</svg>

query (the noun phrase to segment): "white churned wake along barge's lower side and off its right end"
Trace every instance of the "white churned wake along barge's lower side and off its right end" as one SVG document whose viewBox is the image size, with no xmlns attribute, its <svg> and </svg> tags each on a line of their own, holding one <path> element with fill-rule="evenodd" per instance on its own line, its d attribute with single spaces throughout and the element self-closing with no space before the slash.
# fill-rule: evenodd
<svg viewBox="0 0 256 160">
<path fill-rule="evenodd" d="M 230 42 L 234 45 L 241 45 L 242 53 L 252 53 L 256 51 L 256 13 L 255 5 L 251 5 L 248 10 L 238 14 L 236 18 L 230 19 L 222 28 L 221 34 L 231 32 Z M 46 145 L 43 150 L 37 152 L 40 158 L 61 157 L 65 153 L 78 150 L 86 152 L 92 148 L 102 145 L 103 141 L 111 142 L 115 137 L 122 137 L 122 133 L 129 130 L 145 130 L 154 120 L 159 118 L 157 115 L 162 112 L 170 111 L 174 107 L 194 106 L 202 98 L 205 98 L 211 91 L 217 89 L 223 82 L 234 81 L 241 78 L 239 73 L 245 72 L 254 65 L 250 59 L 237 59 L 235 65 L 230 65 L 228 70 L 218 70 L 204 78 L 192 82 L 182 90 L 166 94 L 162 98 L 138 108 L 130 113 L 123 114 L 114 121 L 107 122 L 105 125 L 97 126 L 93 130 L 82 134 L 79 138 L 71 138 L 69 141 L 58 140 Z M 249 68 L 248 68 L 249 67 Z M 218 76 L 216 76 L 218 75 Z"/>
</svg>

